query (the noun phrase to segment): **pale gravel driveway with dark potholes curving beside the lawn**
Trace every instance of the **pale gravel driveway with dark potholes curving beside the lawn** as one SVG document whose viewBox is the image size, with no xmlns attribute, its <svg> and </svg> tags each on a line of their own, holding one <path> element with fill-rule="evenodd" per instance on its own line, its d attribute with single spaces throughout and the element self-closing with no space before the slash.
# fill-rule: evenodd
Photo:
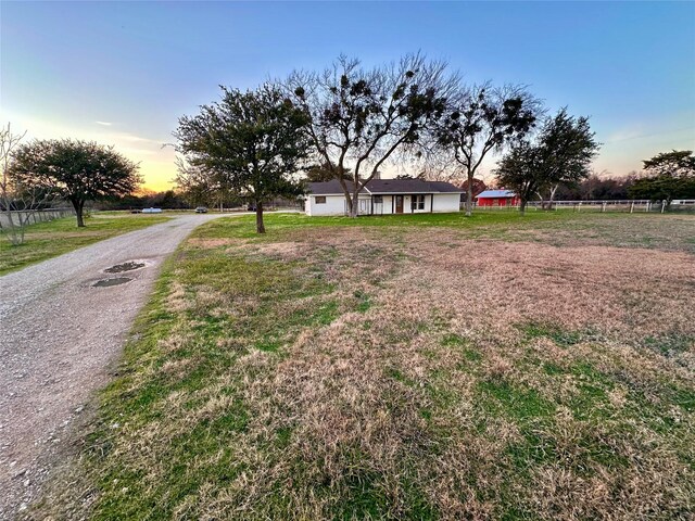
<svg viewBox="0 0 695 521">
<path fill-rule="evenodd" d="M 215 217 L 175 217 L 0 277 L 0 519 L 36 498 L 67 429 L 109 381 L 162 260 Z M 144 267 L 104 272 L 128 260 Z M 116 277 L 131 280 L 93 285 Z"/>
</svg>

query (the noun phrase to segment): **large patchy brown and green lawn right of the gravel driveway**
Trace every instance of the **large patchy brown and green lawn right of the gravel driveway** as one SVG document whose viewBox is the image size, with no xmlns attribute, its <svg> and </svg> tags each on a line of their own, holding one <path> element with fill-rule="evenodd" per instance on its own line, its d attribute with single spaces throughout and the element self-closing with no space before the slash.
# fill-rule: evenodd
<svg viewBox="0 0 695 521">
<path fill-rule="evenodd" d="M 692 519 L 695 217 L 252 217 L 163 271 L 43 519 Z"/>
</svg>

